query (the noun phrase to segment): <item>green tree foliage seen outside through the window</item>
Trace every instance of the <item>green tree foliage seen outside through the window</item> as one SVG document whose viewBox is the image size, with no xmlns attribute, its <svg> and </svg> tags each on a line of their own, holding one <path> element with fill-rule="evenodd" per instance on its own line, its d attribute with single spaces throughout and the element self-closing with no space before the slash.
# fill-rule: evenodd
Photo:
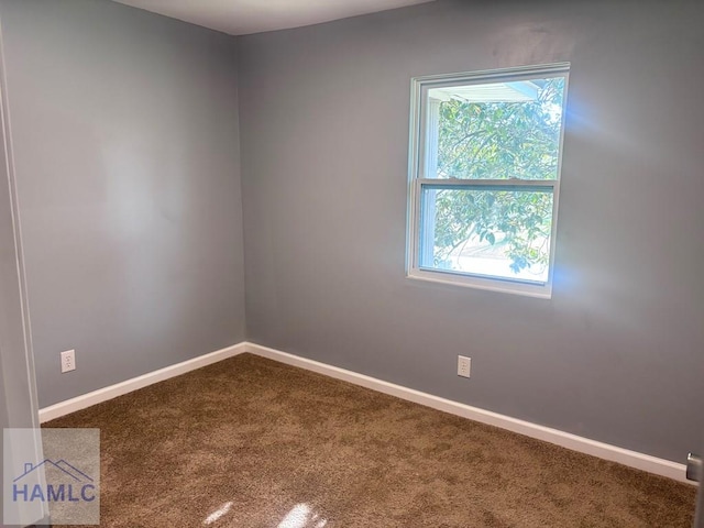
<svg viewBox="0 0 704 528">
<path fill-rule="evenodd" d="M 557 179 L 564 78 L 534 81 L 536 100 L 440 105 L 437 177 Z M 501 245 L 518 273 L 547 266 L 551 191 L 442 189 L 437 191 L 435 265 L 471 237 Z"/>
</svg>

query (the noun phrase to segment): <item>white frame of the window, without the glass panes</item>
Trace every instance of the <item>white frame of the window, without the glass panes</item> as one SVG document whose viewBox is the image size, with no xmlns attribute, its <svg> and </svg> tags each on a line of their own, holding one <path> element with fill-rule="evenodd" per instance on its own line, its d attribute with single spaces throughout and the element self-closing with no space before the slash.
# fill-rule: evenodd
<svg viewBox="0 0 704 528">
<path fill-rule="evenodd" d="M 562 144 L 564 138 L 564 123 L 566 117 L 566 94 L 569 84 L 570 63 L 556 63 L 540 66 L 520 66 L 515 68 L 493 69 L 483 72 L 442 74 L 414 77 L 410 81 L 410 138 L 408 154 L 408 215 L 407 215 L 407 244 L 406 244 L 406 274 L 409 278 L 446 283 L 459 286 L 468 286 L 479 289 L 526 295 L 530 297 L 551 298 L 552 278 L 554 272 L 554 253 L 558 229 L 558 204 L 560 196 L 560 175 L 562 172 Z M 432 105 L 427 97 L 430 88 L 442 86 L 466 86 L 487 82 L 518 81 L 530 78 L 563 77 L 564 92 L 562 102 L 562 123 L 560 127 L 560 144 L 558 151 L 558 172 L 556 179 L 525 180 L 525 179 L 444 179 L 429 178 L 426 170 L 437 166 L 437 127 L 428 128 L 428 122 L 437 119 L 437 110 L 429 111 Z M 431 156 L 431 157 L 429 157 Z M 548 279 L 542 282 L 508 279 L 472 275 L 469 273 L 453 272 L 421 267 L 420 250 L 424 246 L 420 241 L 421 226 L 421 195 L 424 188 L 494 188 L 501 190 L 512 189 L 544 189 L 552 190 L 552 229 L 550 238 L 550 255 Z M 432 213 L 425 211 L 426 213 Z M 428 233 L 426 233 L 428 238 Z M 430 241 L 429 241 L 430 242 Z M 429 244 L 425 244 L 429 246 Z"/>
</svg>

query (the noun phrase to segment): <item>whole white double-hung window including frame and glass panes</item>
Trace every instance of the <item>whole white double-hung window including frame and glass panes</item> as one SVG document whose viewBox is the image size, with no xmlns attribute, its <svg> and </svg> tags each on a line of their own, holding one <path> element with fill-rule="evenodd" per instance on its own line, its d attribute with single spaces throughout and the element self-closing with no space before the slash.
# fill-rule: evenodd
<svg viewBox="0 0 704 528">
<path fill-rule="evenodd" d="M 408 276 L 551 296 L 568 72 L 413 79 Z"/>
</svg>

